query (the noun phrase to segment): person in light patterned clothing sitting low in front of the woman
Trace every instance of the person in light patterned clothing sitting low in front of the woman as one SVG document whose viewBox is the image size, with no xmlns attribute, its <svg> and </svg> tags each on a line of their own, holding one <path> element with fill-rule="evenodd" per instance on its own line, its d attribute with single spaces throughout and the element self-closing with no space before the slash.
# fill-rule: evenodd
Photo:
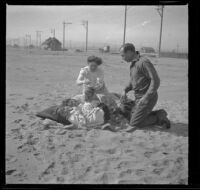
<svg viewBox="0 0 200 190">
<path fill-rule="evenodd" d="M 108 118 L 108 109 L 100 103 L 92 87 L 85 87 L 84 89 L 84 103 L 77 107 L 73 107 L 70 115 L 66 118 L 71 122 L 65 128 L 82 128 L 82 127 L 96 127 L 96 126 L 110 126 L 106 123 Z"/>
</svg>

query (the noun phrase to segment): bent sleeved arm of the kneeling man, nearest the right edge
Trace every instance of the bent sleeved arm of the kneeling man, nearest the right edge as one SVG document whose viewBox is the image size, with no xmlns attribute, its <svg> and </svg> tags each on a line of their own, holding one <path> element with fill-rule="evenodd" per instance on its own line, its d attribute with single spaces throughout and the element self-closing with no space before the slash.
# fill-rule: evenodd
<svg viewBox="0 0 200 190">
<path fill-rule="evenodd" d="M 158 87 L 160 86 L 160 78 L 153 64 L 149 60 L 143 62 L 142 69 L 144 74 L 151 79 L 149 89 L 143 97 L 143 99 L 149 100 L 157 92 Z"/>
</svg>

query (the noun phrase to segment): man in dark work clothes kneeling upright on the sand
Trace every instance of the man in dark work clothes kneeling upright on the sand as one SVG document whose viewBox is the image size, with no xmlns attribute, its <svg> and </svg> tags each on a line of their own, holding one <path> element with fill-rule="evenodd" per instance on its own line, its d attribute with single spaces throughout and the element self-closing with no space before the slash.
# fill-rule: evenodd
<svg viewBox="0 0 200 190">
<path fill-rule="evenodd" d="M 130 127 L 126 131 L 152 125 L 170 128 L 170 121 L 165 110 L 152 111 L 158 100 L 157 90 L 160 86 L 160 79 L 153 64 L 146 57 L 138 56 L 131 43 L 124 44 L 120 48 L 120 54 L 125 62 L 131 63 L 130 82 L 124 89 L 122 99 L 126 99 L 127 93 L 131 90 L 135 95 Z"/>
</svg>

